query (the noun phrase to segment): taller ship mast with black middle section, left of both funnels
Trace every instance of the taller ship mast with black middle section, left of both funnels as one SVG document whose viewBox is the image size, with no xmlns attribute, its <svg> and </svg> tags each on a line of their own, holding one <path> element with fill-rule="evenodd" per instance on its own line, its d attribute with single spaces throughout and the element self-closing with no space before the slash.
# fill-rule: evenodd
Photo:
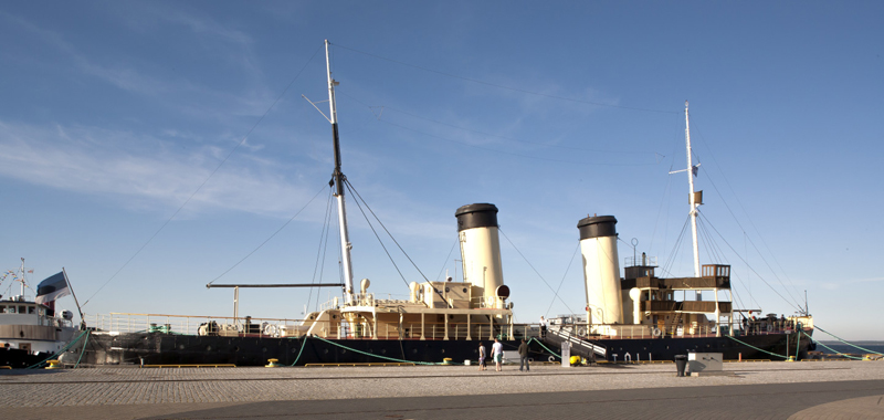
<svg viewBox="0 0 884 420">
<path fill-rule="evenodd" d="M 344 265 L 344 302 L 352 303 L 352 264 L 350 262 L 349 234 L 347 233 L 347 208 L 344 203 L 344 181 L 347 177 L 340 171 L 340 140 L 338 139 L 338 113 L 335 106 L 335 86 L 338 82 L 332 78 L 332 63 L 328 59 L 328 40 L 325 40 L 325 66 L 328 72 L 328 104 L 332 134 L 335 140 L 335 171 L 332 179 L 335 183 L 335 197 L 338 200 L 338 224 L 340 225 L 340 262 Z"/>
</svg>

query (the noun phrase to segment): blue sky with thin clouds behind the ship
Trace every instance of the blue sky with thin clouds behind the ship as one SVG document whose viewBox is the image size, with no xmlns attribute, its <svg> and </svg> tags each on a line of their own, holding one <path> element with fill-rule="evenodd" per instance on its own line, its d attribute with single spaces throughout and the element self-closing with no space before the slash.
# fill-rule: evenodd
<svg viewBox="0 0 884 420">
<path fill-rule="evenodd" d="M 4 269 L 24 256 L 33 284 L 66 267 L 86 313 L 229 315 L 230 291 L 206 283 L 318 193 L 218 282 L 318 279 L 332 136 L 301 95 L 327 97 L 328 39 L 344 172 L 428 277 L 454 273 L 453 213 L 473 202 L 501 209 L 519 322 L 583 307 L 579 258 L 567 269 L 590 213 L 690 275 L 686 177 L 667 174 L 686 165 L 688 99 L 701 256 L 733 265 L 737 306 L 789 314 L 807 290 L 823 328 L 884 339 L 881 15 L 878 2 L 7 2 L 0 254 Z M 349 202 L 355 276 L 404 295 Z M 293 318 L 308 300 L 250 290 L 240 311 Z"/>
</svg>

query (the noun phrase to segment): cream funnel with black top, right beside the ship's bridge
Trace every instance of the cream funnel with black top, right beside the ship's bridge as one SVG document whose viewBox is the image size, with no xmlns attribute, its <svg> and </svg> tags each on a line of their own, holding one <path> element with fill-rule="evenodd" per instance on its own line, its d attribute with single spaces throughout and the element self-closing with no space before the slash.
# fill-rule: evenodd
<svg viewBox="0 0 884 420">
<path fill-rule="evenodd" d="M 615 224 L 613 216 L 593 216 L 577 223 L 591 317 L 588 321 L 592 324 L 623 323 Z"/>
</svg>

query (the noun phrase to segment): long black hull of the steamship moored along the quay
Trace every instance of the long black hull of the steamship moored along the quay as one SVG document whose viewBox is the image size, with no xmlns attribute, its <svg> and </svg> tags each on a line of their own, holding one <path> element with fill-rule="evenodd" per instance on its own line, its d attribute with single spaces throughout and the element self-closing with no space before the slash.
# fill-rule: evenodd
<svg viewBox="0 0 884 420">
<path fill-rule="evenodd" d="M 725 359 L 782 360 L 775 355 L 804 358 L 813 349 L 810 339 L 800 343 L 796 334 L 766 334 L 729 337 L 643 338 L 587 340 L 606 349 L 604 356 L 571 347 L 571 355 L 608 361 L 673 360 L 688 351 L 722 353 Z M 322 339 L 274 338 L 267 336 L 191 336 L 164 333 L 92 334 L 85 346 L 85 365 L 217 365 L 263 366 L 271 358 L 281 365 L 365 364 L 412 361 L 439 364 L 444 359 L 463 364 L 476 363 L 478 343 L 491 349 L 493 340 L 419 340 L 419 339 Z M 560 351 L 559 343 L 547 337 L 544 346 L 530 342 L 534 360 L 558 361 L 548 349 Z M 741 342 L 741 343 L 740 343 Z M 519 342 L 503 340 L 504 350 L 515 350 Z M 80 346 L 75 346 L 80 347 Z M 548 349 L 547 349 L 548 348 Z M 787 350 L 788 348 L 788 350 Z M 72 349 L 67 359 L 80 357 Z M 767 353 L 766 353 L 767 351 Z M 627 356 L 629 355 L 629 356 Z"/>
</svg>

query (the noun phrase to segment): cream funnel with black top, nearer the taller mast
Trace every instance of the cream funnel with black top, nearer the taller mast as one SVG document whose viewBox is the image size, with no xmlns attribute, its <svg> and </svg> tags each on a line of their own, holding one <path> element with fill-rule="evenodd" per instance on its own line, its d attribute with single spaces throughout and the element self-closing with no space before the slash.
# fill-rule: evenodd
<svg viewBox="0 0 884 420">
<path fill-rule="evenodd" d="M 469 204 L 457 209 L 454 216 L 461 238 L 464 281 L 482 287 L 486 306 L 503 307 L 503 300 L 508 296 L 496 295 L 498 287 L 504 285 L 497 207 L 488 203 Z"/>
</svg>

